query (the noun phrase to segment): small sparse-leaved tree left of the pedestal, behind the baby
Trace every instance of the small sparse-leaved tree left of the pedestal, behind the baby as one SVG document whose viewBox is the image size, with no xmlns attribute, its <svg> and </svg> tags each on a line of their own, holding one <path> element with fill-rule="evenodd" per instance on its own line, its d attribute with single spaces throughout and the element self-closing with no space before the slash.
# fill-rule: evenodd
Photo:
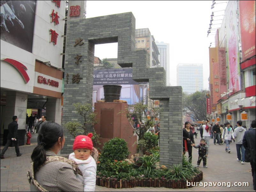
<svg viewBox="0 0 256 192">
<path fill-rule="evenodd" d="M 86 129 L 86 126 L 90 125 L 93 133 L 92 141 L 93 141 L 94 147 L 96 147 L 97 144 L 100 144 L 100 141 L 99 141 L 100 135 L 97 134 L 94 129 L 94 124 L 97 124 L 99 122 L 96 119 L 97 113 L 93 111 L 93 106 L 89 103 L 87 104 L 73 103 L 72 105 L 75 107 L 76 113 L 84 117 L 84 123 L 82 125 L 80 122 L 75 122 L 75 121 L 67 122 L 64 124 L 65 128 L 73 137 L 76 137 L 77 134 L 87 135 L 88 131 Z"/>
</svg>

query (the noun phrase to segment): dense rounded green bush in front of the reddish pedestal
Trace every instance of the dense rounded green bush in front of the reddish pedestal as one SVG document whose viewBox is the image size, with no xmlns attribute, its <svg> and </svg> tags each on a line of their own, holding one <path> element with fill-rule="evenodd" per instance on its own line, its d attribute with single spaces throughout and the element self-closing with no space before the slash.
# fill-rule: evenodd
<svg viewBox="0 0 256 192">
<path fill-rule="evenodd" d="M 128 158 L 129 153 L 130 152 L 128 151 L 127 143 L 125 140 L 115 137 L 104 143 L 99 161 L 122 161 Z"/>
</svg>

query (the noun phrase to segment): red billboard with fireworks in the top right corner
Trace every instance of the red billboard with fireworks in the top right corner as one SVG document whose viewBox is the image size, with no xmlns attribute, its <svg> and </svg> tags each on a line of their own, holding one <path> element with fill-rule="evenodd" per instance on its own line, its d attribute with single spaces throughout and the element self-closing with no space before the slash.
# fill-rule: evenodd
<svg viewBox="0 0 256 192">
<path fill-rule="evenodd" d="M 239 11 L 243 62 L 255 55 L 255 1 L 239 1 Z"/>
</svg>

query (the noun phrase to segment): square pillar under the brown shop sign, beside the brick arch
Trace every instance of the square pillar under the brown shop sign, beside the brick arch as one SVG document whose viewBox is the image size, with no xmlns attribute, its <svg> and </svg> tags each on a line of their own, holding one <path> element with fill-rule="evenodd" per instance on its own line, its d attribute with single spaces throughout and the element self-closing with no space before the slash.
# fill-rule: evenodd
<svg viewBox="0 0 256 192">
<path fill-rule="evenodd" d="M 61 99 L 48 99 L 46 104 L 47 121 L 53 121 L 61 124 Z"/>
</svg>

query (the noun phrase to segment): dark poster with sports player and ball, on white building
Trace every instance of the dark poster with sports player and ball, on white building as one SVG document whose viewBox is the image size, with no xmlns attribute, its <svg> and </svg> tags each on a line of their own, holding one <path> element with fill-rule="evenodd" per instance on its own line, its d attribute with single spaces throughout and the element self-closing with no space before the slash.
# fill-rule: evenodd
<svg viewBox="0 0 256 192">
<path fill-rule="evenodd" d="M 32 53 L 36 1 L 1 1 L 1 40 Z"/>
</svg>

